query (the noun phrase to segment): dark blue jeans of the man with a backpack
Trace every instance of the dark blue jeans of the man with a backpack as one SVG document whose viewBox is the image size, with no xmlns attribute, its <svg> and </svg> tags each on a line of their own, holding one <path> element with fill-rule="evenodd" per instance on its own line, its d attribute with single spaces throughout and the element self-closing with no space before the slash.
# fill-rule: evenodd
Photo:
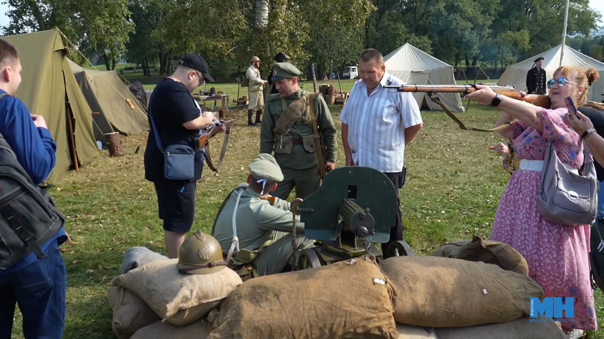
<svg viewBox="0 0 604 339">
<path fill-rule="evenodd" d="M 10 338 L 14 306 L 23 315 L 26 339 L 60 339 L 65 328 L 67 276 L 57 241 L 44 257 L 0 276 L 0 338 Z"/>
</svg>

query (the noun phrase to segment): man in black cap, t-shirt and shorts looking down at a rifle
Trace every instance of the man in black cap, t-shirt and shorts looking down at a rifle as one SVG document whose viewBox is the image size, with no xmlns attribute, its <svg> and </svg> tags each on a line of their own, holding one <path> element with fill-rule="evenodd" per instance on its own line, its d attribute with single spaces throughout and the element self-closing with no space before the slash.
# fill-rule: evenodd
<svg viewBox="0 0 604 339">
<path fill-rule="evenodd" d="M 166 179 L 164 154 L 169 145 L 194 148 L 194 138 L 214 120 L 211 112 L 202 112 L 191 92 L 204 81 L 214 82 L 208 64 L 196 54 L 188 54 L 176 66 L 174 74 L 161 80 L 149 99 L 149 137 L 144 154 L 145 179 L 153 182 L 157 193 L 159 218 L 163 220 L 165 246 L 170 258 L 178 258 L 184 234 L 191 229 L 195 208 L 195 188 L 201 179 L 204 154 L 194 155 L 194 177 L 190 180 Z M 158 138 L 159 136 L 159 138 Z"/>
</svg>

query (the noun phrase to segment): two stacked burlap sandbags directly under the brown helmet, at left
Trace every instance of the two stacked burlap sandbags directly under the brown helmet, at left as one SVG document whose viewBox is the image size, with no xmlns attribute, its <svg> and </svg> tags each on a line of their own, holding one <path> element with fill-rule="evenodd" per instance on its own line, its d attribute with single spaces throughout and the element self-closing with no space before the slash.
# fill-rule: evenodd
<svg viewBox="0 0 604 339">
<path fill-rule="evenodd" d="M 152 261 L 114 277 L 109 303 L 118 338 L 130 338 L 158 320 L 176 326 L 198 322 L 242 283 L 228 267 L 212 274 L 181 274 L 177 263 L 178 259 Z"/>
</svg>

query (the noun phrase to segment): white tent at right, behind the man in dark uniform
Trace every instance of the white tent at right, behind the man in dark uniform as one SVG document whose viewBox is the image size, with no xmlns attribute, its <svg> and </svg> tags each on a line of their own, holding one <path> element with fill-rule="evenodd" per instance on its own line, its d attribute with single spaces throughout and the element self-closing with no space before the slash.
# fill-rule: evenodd
<svg viewBox="0 0 604 339">
<path fill-rule="evenodd" d="M 517 90 L 527 90 L 527 73 L 533 68 L 533 60 L 538 57 L 543 57 L 543 68 L 547 75 L 547 80 L 554 77 L 554 72 L 560 66 L 560 54 L 562 52 L 562 44 L 557 45 L 554 48 L 548 49 L 541 54 L 533 55 L 532 57 L 522 62 L 516 63 L 515 65 L 509 66 L 505 72 L 501 75 L 501 78 L 497 82 L 500 86 L 515 86 Z M 562 66 L 577 66 L 580 68 L 595 68 L 600 74 L 604 72 L 604 63 L 599 62 L 596 59 L 592 59 L 582 52 L 576 51 L 570 46 L 564 47 L 564 59 L 562 59 Z M 591 84 L 590 90 L 587 93 L 587 100 L 600 102 L 604 100 L 602 96 L 604 93 L 604 81 L 599 80 Z"/>
</svg>

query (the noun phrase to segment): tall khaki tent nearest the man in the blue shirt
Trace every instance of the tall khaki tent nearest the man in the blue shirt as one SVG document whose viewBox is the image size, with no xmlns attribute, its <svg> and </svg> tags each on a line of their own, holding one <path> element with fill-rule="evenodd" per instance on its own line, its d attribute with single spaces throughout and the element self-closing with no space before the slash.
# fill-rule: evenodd
<svg viewBox="0 0 604 339">
<path fill-rule="evenodd" d="M 80 168 L 100 154 L 92 134 L 92 110 L 67 61 L 69 50 L 56 29 L 2 39 L 18 49 L 21 59 L 22 81 L 15 97 L 25 103 L 31 114 L 44 117 L 57 143 L 57 161 L 47 183 L 60 183 L 74 166 L 72 139 Z M 71 128 L 68 116 L 71 117 Z"/>
</svg>

